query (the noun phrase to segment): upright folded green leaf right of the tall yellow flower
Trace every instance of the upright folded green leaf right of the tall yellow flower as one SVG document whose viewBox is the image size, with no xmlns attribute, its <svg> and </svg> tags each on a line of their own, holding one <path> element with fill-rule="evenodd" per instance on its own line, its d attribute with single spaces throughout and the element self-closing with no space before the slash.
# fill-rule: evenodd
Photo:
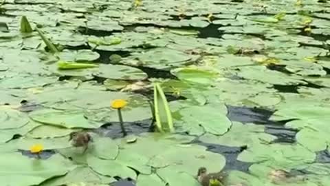
<svg viewBox="0 0 330 186">
<path fill-rule="evenodd" d="M 172 114 L 159 83 L 154 84 L 154 107 L 157 130 L 159 132 L 174 132 Z"/>
</svg>

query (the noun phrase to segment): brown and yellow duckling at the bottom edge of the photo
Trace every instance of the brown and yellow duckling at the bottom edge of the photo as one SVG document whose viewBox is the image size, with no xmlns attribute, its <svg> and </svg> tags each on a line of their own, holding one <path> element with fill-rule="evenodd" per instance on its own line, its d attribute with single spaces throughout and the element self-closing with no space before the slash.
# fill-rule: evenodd
<svg viewBox="0 0 330 186">
<path fill-rule="evenodd" d="M 222 172 L 207 173 L 206 167 L 200 167 L 197 173 L 197 179 L 202 186 L 223 186 L 221 180 L 223 179 Z"/>
</svg>

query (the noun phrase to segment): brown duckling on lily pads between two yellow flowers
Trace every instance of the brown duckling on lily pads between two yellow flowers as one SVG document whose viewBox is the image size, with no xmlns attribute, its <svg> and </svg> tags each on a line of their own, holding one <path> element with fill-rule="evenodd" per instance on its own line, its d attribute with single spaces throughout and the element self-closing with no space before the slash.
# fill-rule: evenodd
<svg viewBox="0 0 330 186">
<path fill-rule="evenodd" d="M 89 142 L 93 142 L 93 138 L 91 138 L 91 135 L 87 132 L 72 132 L 69 141 L 71 140 L 72 146 L 84 147 L 83 154 L 86 152 Z"/>
</svg>

